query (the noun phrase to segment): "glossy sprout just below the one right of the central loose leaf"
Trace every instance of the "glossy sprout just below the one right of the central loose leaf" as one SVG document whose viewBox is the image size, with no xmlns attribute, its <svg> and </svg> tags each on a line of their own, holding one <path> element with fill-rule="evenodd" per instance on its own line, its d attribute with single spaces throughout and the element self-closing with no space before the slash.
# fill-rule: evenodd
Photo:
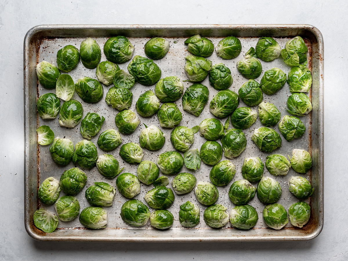
<svg viewBox="0 0 348 261">
<path fill-rule="evenodd" d="M 215 186 L 225 186 L 236 174 L 236 166 L 229 160 L 217 163 L 209 173 L 209 179 Z"/>
</svg>

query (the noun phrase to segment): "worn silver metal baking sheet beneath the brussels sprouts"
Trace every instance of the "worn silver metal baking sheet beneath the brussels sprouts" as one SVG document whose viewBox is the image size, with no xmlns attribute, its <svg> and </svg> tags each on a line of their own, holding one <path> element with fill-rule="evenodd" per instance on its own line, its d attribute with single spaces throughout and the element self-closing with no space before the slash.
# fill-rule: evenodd
<svg viewBox="0 0 348 261">
<path fill-rule="evenodd" d="M 186 80 L 187 77 L 184 73 L 184 57 L 189 53 L 184 45 L 184 40 L 189 36 L 200 33 L 204 37 L 208 37 L 214 43 L 214 46 L 223 38 L 228 35 L 234 35 L 242 42 L 241 54 L 232 60 L 222 60 L 213 55 L 208 57 L 209 60 L 216 63 L 224 63 L 232 72 L 234 79 L 230 90 L 238 93 L 239 87 L 247 81 L 237 70 L 236 63 L 244 55 L 250 47 L 255 47 L 259 37 L 271 36 L 275 37 L 280 47 L 284 48 L 285 42 L 294 37 L 295 35 L 301 35 L 308 46 L 308 61 L 309 67 L 312 72 L 313 85 L 310 89 L 309 96 L 313 104 L 313 110 L 307 116 L 302 117 L 301 120 L 306 125 L 306 132 L 300 139 L 287 142 L 282 137 L 282 147 L 275 150 L 274 153 L 280 153 L 283 155 L 291 155 L 293 149 L 305 149 L 311 153 L 313 159 L 313 167 L 304 175 L 308 178 L 313 187 L 314 194 L 306 201 L 311 205 L 311 217 L 309 222 L 303 228 L 293 227 L 289 223 L 282 230 L 270 229 L 266 226 L 262 219 L 262 210 L 264 204 L 255 197 L 248 203 L 256 208 L 259 214 L 259 220 L 256 226 L 248 231 L 242 231 L 234 229 L 231 224 L 228 223 L 221 229 L 212 229 L 206 226 L 203 220 L 203 212 L 206 206 L 201 205 L 195 198 L 192 192 L 187 195 L 175 195 L 174 204 L 168 208 L 174 215 L 173 226 L 164 231 L 153 229 L 150 226 L 150 222 L 144 227 L 133 228 L 124 223 L 120 217 L 120 208 L 122 204 L 127 200 L 118 191 L 114 197 L 114 203 L 111 207 L 105 207 L 108 212 L 108 224 L 105 229 L 101 230 L 89 230 L 81 226 L 78 218 L 70 222 L 61 222 L 58 228 L 53 233 L 47 234 L 37 229 L 33 224 L 33 213 L 38 208 L 45 208 L 48 211 L 55 213 L 53 206 L 45 206 L 37 199 L 37 189 L 39 184 L 49 176 L 54 176 L 56 179 L 60 179 L 64 170 L 74 167 L 71 162 L 67 166 L 58 166 L 52 160 L 49 153 L 49 146 L 39 146 L 37 143 L 36 129 L 41 125 L 48 125 L 53 129 L 55 137 L 67 137 L 72 140 L 74 144 L 81 141 L 83 137 L 80 134 L 80 124 L 75 128 L 60 127 L 58 124 L 58 116 L 54 120 L 42 120 L 36 111 L 36 101 L 39 95 L 47 92 L 55 92 L 55 90 L 44 89 L 36 77 L 35 66 L 38 62 L 48 61 L 56 64 L 57 51 L 65 45 L 74 45 L 77 48 L 80 47 L 80 43 L 86 37 L 95 38 L 98 44 L 103 50 L 105 41 L 115 35 L 125 35 L 135 47 L 134 55 L 145 56 L 144 44 L 151 37 L 165 37 L 170 42 L 170 49 L 168 54 L 161 60 L 155 61 L 162 70 L 162 77 L 177 76 L 181 80 Z M 106 58 L 102 52 L 101 61 L 105 61 Z M 129 62 L 120 64 L 120 68 L 127 71 L 127 65 Z M 275 61 L 266 63 L 261 61 L 263 72 L 272 68 L 278 67 L 282 69 L 286 74 L 290 70 L 281 57 Z M 80 77 L 88 76 L 96 78 L 95 69 L 87 69 L 82 63 L 79 63 L 77 68 L 69 73 L 74 81 Z M 256 81 L 260 81 L 263 73 Z M 209 85 L 208 78 L 206 78 L 202 84 L 206 85 L 209 89 L 209 102 L 216 94 L 217 90 Z M 190 82 L 184 82 L 184 90 L 191 85 Z M 104 101 L 105 95 L 110 87 L 103 86 L 104 97 L 96 104 L 88 104 L 83 102 L 80 97 L 75 93 L 73 98 L 80 101 L 84 107 L 84 115 L 88 111 L 97 112 L 105 117 L 105 122 L 100 130 L 100 133 L 109 128 L 116 128 L 114 123 L 114 117 L 118 113 L 116 109 L 112 109 Z M 135 102 L 140 94 L 146 90 L 154 90 L 155 85 L 150 87 L 142 86 L 136 83 L 131 89 L 133 92 L 133 103 L 131 110 L 135 111 Z M 285 110 L 287 97 L 290 95 L 288 85 L 284 87 L 276 94 L 272 96 L 264 95 L 265 102 L 274 103 L 282 113 L 282 117 L 288 114 Z M 199 122 L 205 118 L 214 117 L 209 112 L 209 102 L 205 106 L 203 112 L 199 117 L 195 117 L 188 112 L 182 110 L 181 99 L 176 101 L 180 111 L 183 114 L 183 119 L 180 125 L 193 127 L 199 125 Z M 62 103 L 61 103 L 62 104 Z M 240 101 L 239 106 L 245 106 Z M 257 106 L 254 109 L 257 110 Z M 28 31 L 24 40 L 24 112 L 25 112 L 25 169 L 24 169 L 24 200 L 25 200 L 25 227 L 31 237 L 37 240 L 43 241 L 133 241 L 133 242 L 180 242 L 180 241 L 277 241 L 277 240 L 309 240 L 315 238 L 322 230 L 323 227 L 323 157 L 324 157 L 324 145 L 323 145 L 323 38 L 321 33 L 313 26 L 310 25 L 40 25 L 33 27 Z M 140 117 L 140 116 L 139 116 Z M 156 115 L 150 118 L 140 117 L 141 124 L 131 135 L 122 135 L 123 143 L 130 141 L 139 142 L 139 134 L 143 129 L 143 123 L 146 125 L 154 124 L 158 127 L 159 122 Z M 222 119 L 224 123 L 225 119 Z M 245 157 L 260 157 L 263 162 L 269 153 L 261 152 L 251 140 L 251 134 L 255 128 L 261 126 L 261 122 L 258 119 L 255 124 L 249 129 L 244 130 L 247 137 L 246 150 L 237 158 L 232 159 L 232 163 L 236 165 L 237 172 L 234 179 L 225 187 L 218 187 L 219 198 L 216 204 L 223 204 L 227 207 L 228 211 L 234 207 L 228 197 L 228 190 L 231 183 L 235 180 L 242 179 L 241 167 Z M 117 129 L 117 128 L 116 128 Z M 161 128 L 166 135 L 166 142 L 162 149 L 159 151 L 151 152 L 144 149 L 144 160 L 152 160 L 156 162 L 157 156 L 165 151 L 174 150 L 169 136 L 172 129 Z M 278 132 L 278 127 L 275 126 Z M 92 142 L 96 144 L 98 135 L 92 138 Z M 192 148 L 200 149 L 200 146 L 205 142 L 205 139 L 195 134 L 195 142 Z M 108 152 L 115 156 L 121 167 L 125 167 L 124 172 L 131 172 L 136 174 L 137 165 L 130 165 L 124 162 L 118 155 L 120 147 Z M 98 154 L 105 153 L 97 146 Z M 226 159 L 224 156 L 222 160 Z M 197 177 L 197 181 L 209 181 L 209 171 L 212 167 L 201 163 L 201 168 L 195 172 L 189 171 L 183 167 L 182 172 L 191 172 Z M 85 190 L 93 184 L 95 181 L 105 181 L 116 187 L 116 179 L 110 180 L 102 176 L 96 167 L 91 170 L 85 171 L 88 180 L 84 189 L 77 195 L 79 199 L 81 210 L 89 203 L 85 199 Z M 274 177 L 267 169 L 264 169 L 264 175 L 275 178 L 282 186 L 282 197 L 278 203 L 288 207 L 298 201 L 288 191 L 287 181 L 291 176 L 298 175 L 292 169 L 285 177 Z M 174 176 L 169 176 L 172 180 Z M 257 185 L 254 182 L 253 185 Z M 171 185 L 168 185 L 171 187 Z M 141 193 L 135 198 L 143 201 L 143 196 L 150 190 L 152 185 L 141 184 Z M 61 192 L 62 196 L 64 195 Z M 187 200 L 191 200 L 200 207 L 200 223 L 195 228 L 183 228 L 179 222 L 179 206 Z M 150 211 L 153 209 L 150 208 Z"/>
</svg>

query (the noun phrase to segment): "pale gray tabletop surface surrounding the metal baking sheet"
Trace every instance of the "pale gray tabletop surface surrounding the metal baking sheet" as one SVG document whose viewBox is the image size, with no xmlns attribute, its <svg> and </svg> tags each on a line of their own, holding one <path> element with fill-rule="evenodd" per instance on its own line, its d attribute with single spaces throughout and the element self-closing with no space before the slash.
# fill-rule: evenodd
<svg viewBox="0 0 348 261">
<path fill-rule="evenodd" d="M 100 1 L 101 2 L 101 1 Z M 151 3 L 150 3 L 151 2 Z M 346 1 L 0 0 L 0 260 L 348 260 Z M 311 24 L 325 43 L 325 217 L 309 242 L 36 242 L 24 228 L 23 39 L 38 24 Z"/>
</svg>

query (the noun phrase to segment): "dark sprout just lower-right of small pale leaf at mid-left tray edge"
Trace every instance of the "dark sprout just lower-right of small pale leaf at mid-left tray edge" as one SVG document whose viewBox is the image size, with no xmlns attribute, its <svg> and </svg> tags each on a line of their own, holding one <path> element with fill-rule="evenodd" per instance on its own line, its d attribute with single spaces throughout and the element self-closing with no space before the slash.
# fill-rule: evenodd
<svg viewBox="0 0 348 261">
<path fill-rule="evenodd" d="M 68 165 L 74 154 L 74 144 L 69 139 L 56 137 L 49 147 L 52 159 L 59 165 Z"/>
</svg>

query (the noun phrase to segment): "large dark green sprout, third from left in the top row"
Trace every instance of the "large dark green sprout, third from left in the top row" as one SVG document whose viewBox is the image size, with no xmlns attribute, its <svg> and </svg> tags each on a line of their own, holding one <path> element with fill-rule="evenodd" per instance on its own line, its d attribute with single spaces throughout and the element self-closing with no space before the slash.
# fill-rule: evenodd
<svg viewBox="0 0 348 261">
<path fill-rule="evenodd" d="M 104 44 L 106 59 L 114 63 L 125 63 L 132 58 L 134 46 L 124 36 L 109 38 Z"/>
</svg>

